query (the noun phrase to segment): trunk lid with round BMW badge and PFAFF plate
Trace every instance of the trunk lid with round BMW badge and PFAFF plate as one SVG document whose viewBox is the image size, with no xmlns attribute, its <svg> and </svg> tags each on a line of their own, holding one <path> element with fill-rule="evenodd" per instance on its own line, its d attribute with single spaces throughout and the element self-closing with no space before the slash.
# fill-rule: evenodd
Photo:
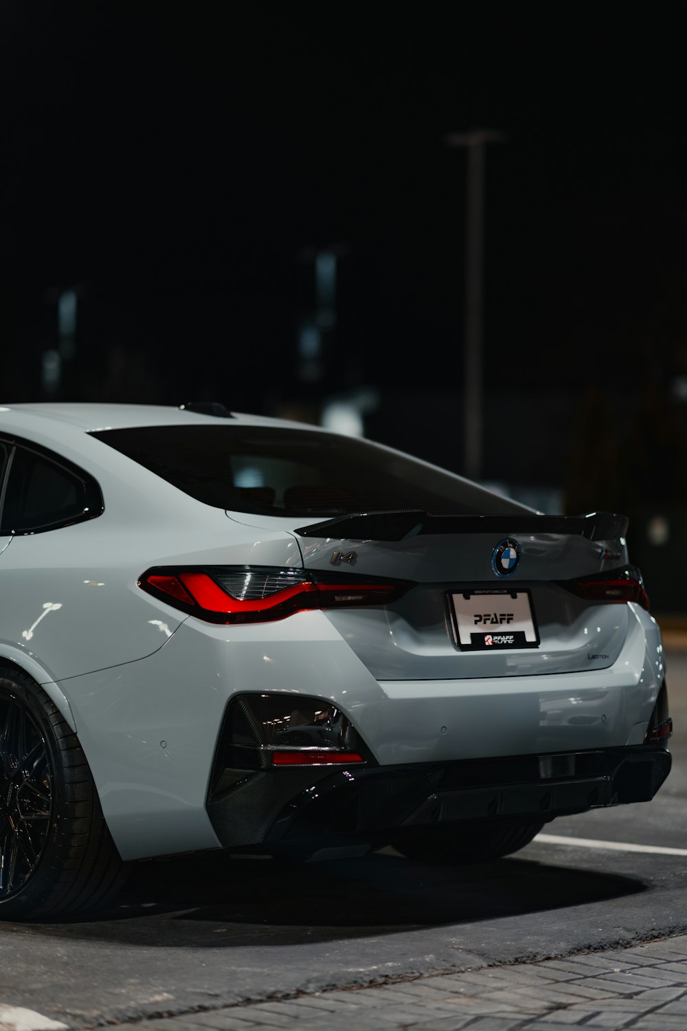
<svg viewBox="0 0 687 1031">
<path fill-rule="evenodd" d="M 572 585 L 627 563 L 626 525 L 597 513 L 377 512 L 296 534 L 308 570 L 336 571 L 342 583 L 356 574 L 414 583 L 385 606 L 327 611 L 377 679 L 455 679 L 612 665 L 627 605 L 590 601 Z"/>
</svg>

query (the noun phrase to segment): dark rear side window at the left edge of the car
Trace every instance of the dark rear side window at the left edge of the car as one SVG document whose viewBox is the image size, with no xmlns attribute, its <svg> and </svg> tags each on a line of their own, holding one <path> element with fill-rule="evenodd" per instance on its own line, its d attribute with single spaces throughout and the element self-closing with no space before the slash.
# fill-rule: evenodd
<svg viewBox="0 0 687 1031">
<path fill-rule="evenodd" d="M 31 533 L 89 519 L 100 514 L 101 508 L 92 509 L 93 504 L 93 488 L 76 472 L 44 455 L 16 447 L 9 468 L 0 532 Z"/>
</svg>

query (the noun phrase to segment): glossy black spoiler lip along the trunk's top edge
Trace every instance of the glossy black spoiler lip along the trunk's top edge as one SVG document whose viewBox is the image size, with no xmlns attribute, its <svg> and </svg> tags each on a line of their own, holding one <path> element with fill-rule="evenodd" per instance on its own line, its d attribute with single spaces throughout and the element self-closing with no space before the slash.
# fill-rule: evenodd
<svg viewBox="0 0 687 1031">
<path fill-rule="evenodd" d="M 419 534 L 493 533 L 508 537 L 519 533 L 571 534 L 587 540 L 613 540 L 627 533 L 628 519 L 614 512 L 586 516 L 541 516 L 537 512 L 503 516 L 433 514 L 417 509 L 348 512 L 295 531 L 299 537 L 338 540 L 404 540 Z"/>
</svg>

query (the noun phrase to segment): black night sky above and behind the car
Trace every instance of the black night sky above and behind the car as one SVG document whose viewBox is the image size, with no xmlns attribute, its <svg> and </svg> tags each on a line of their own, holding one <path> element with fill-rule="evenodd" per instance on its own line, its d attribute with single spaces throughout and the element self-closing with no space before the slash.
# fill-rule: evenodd
<svg viewBox="0 0 687 1031">
<path fill-rule="evenodd" d="M 3 3 L 2 400 L 317 421 L 363 391 L 368 436 L 460 472 L 466 155 L 444 137 L 496 129 L 483 478 L 628 511 L 642 555 L 656 517 L 675 540 L 684 39 L 677 9 L 628 10 Z M 337 319 L 308 378 L 322 250 Z"/>
</svg>

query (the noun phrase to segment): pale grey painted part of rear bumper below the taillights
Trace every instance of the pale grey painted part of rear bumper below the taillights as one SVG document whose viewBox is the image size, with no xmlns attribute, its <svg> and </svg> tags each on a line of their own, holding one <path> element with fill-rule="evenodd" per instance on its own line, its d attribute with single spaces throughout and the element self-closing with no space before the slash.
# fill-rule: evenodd
<svg viewBox="0 0 687 1031">
<path fill-rule="evenodd" d="M 365 740 L 379 764 L 375 775 L 398 769 L 412 774 L 411 784 L 423 770 L 458 762 L 644 747 L 663 671 L 658 631 L 650 638 L 640 619 L 611 669 L 379 683 L 322 612 L 229 630 L 190 618 L 147 659 L 60 687 L 123 859 L 238 849 L 265 842 L 282 809 L 332 773 L 304 779 L 283 769 L 275 786 L 245 773 L 245 783 L 225 780 L 218 790 L 213 758 L 237 693 L 327 699 Z"/>
</svg>

